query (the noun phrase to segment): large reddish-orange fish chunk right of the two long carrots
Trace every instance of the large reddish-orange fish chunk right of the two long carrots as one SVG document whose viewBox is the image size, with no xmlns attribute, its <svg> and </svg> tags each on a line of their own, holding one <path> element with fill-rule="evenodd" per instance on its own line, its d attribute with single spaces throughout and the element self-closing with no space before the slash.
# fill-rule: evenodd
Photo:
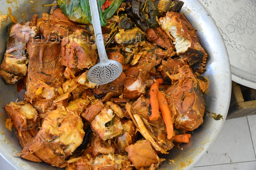
<svg viewBox="0 0 256 170">
<path fill-rule="evenodd" d="M 205 102 L 199 84 L 188 65 L 169 74 L 173 85 L 165 91 L 174 127 L 192 131 L 203 123 Z"/>
</svg>

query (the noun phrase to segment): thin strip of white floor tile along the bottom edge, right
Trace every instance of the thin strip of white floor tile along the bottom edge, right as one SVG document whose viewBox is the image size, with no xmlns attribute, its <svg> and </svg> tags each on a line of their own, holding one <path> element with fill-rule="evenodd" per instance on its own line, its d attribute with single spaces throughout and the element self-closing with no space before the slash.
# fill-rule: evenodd
<svg viewBox="0 0 256 170">
<path fill-rule="evenodd" d="M 256 170 L 256 161 L 200 166 L 192 170 Z"/>
</svg>

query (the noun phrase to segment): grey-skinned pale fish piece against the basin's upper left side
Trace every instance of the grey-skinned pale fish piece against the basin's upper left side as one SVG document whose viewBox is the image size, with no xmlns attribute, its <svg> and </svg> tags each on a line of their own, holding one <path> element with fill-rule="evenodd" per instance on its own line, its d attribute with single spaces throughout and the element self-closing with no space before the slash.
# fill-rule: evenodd
<svg viewBox="0 0 256 170">
<path fill-rule="evenodd" d="M 25 53 L 26 42 L 36 32 L 36 27 L 30 26 L 30 22 L 16 23 L 10 28 L 10 37 L 0 67 L 0 75 L 5 79 L 6 83 L 15 84 L 27 75 L 28 58 Z"/>
</svg>

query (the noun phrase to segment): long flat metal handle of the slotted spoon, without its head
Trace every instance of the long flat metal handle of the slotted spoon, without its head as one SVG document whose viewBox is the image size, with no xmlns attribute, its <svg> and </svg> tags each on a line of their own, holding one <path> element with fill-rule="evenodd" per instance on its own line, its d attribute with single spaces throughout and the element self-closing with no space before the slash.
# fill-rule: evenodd
<svg viewBox="0 0 256 170">
<path fill-rule="evenodd" d="M 97 0 L 89 0 L 90 10 L 91 10 L 91 19 L 93 21 L 93 29 L 95 34 L 95 41 L 99 54 L 99 61 L 101 63 L 108 62 L 108 56 L 106 53 L 104 40 L 101 31 L 101 21 L 99 20 L 99 10 Z"/>
</svg>

